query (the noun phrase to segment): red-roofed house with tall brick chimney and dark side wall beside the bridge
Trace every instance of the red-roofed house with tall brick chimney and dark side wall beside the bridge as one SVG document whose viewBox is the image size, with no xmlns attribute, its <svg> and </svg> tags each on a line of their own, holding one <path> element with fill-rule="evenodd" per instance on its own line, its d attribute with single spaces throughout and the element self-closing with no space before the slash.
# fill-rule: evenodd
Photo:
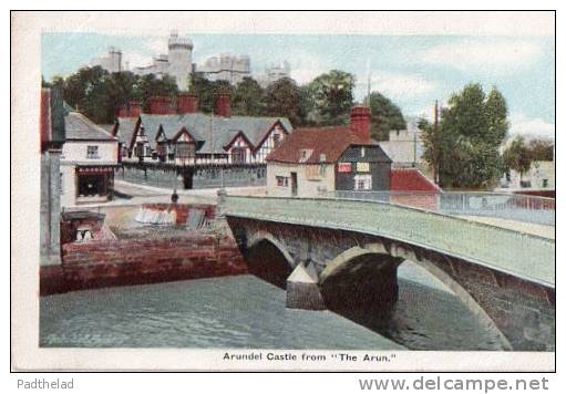
<svg viewBox="0 0 566 394">
<path fill-rule="evenodd" d="M 298 128 L 267 158 L 271 196 L 389 190 L 391 158 L 370 138 L 370 111 L 351 110 L 350 126 Z"/>
</svg>

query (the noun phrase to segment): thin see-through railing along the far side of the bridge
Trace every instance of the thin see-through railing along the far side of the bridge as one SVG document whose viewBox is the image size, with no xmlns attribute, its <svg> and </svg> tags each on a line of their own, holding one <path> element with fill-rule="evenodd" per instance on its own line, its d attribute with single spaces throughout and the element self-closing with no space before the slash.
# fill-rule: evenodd
<svg viewBox="0 0 566 394">
<path fill-rule="evenodd" d="M 474 191 L 321 191 L 320 197 L 381 201 L 443 215 L 483 216 L 555 226 L 555 199 Z"/>
</svg>

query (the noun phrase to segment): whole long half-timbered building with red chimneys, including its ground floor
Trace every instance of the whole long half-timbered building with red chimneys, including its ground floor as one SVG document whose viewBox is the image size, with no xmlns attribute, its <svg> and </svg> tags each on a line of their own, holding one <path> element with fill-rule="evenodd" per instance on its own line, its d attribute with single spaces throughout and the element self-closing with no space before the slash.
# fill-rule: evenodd
<svg viewBox="0 0 566 394">
<path fill-rule="evenodd" d="M 266 157 L 292 132 L 290 122 L 231 116 L 226 94 L 214 114 L 195 112 L 195 101 L 184 94 L 174 111 L 168 98 L 154 97 L 150 113 L 122 111 L 112 134 L 121 144 L 123 178 L 158 187 L 265 185 Z"/>
</svg>

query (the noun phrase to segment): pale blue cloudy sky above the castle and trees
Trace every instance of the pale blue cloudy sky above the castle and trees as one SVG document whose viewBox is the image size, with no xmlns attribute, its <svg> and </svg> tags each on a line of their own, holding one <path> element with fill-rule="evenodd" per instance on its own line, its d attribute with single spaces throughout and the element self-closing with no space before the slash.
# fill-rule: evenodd
<svg viewBox="0 0 566 394">
<path fill-rule="evenodd" d="M 248 54 L 259 76 L 270 63 L 288 61 L 291 77 L 308 83 L 332 69 L 356 76 L 356 100 L 368 91 L 391 98 L 405 116 L 432 117 L 434 101 L 446 103 L 469 83 L 496 86 L 507 100 L 511 134 L 555 135 L 555 44 L 552 35 L 363 35 L 363 34 L 203 34 L 193 40 L 193 62 L 213 54 Z M 122 50 L 130 68 L 167 52 L 168 34 L 121 35 L 91 32 L 43 33 L 45 80 L 69 75 Z"/>
</svg>

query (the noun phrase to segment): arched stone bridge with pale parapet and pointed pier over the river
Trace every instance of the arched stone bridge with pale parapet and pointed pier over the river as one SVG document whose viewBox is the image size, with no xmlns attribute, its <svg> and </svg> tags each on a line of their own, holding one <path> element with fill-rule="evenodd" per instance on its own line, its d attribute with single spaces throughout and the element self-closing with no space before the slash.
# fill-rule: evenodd
<svg viewBox="0 0 566 394">
<path fill-rule="evenodd" d="M 555 350 L 555 241 L 377 201 L 219 195 L 253 272 L 287 305 L 379 310 L 410 260 L 440 279 L 504 349 Z"/>
</svg>

